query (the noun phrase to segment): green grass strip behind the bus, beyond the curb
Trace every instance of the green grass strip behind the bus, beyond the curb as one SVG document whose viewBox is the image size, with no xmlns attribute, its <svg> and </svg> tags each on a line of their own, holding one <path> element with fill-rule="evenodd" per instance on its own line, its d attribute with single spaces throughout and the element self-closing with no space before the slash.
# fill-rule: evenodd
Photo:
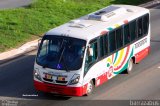
<svg viewBox="0 0 160 106">
<path fill-rule="evenodd" d="M 28 7 L 0 10 L 0 52 L 107 5 L 144 2 L 147 0 L 37 0 Z"/>
</svg>

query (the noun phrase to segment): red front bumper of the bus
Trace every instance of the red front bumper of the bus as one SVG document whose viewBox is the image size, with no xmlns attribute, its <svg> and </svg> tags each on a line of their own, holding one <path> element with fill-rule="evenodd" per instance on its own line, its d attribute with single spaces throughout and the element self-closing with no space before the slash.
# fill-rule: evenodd
<svg viewBox="0 0 160 106">
<path fill-rule="evenodd" d="M 69 87 L 66 85 L 56 85 L 34 80 L 34 87 L 38 91 L 67 95 L 67 96 L 83 96 L 86 93 L 87 86 Z"/>
</svg>

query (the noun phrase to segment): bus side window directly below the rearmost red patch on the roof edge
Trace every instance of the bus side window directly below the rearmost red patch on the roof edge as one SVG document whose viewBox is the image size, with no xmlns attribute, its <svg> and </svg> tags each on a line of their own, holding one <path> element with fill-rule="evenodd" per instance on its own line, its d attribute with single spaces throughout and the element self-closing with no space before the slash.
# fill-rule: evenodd
<svg viewBox="0 0 160 106">
<path fill-rule="evenodd" d="M 129 24 L 124 26 L 124 45 L 130 43 Z"/>
</svg>

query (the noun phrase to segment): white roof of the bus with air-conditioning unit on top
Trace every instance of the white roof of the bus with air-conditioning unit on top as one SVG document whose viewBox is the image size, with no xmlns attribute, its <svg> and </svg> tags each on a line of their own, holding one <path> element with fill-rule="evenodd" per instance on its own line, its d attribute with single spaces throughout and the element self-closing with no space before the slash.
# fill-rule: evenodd
<svg viewBox="0 0 160 106">
<path fill-rule="evenodd" d="M 148 9 L 138 6 L 111 5 L 53 28 L 46 35 L 91 40 L 146 13 Z"/>
</svg>

